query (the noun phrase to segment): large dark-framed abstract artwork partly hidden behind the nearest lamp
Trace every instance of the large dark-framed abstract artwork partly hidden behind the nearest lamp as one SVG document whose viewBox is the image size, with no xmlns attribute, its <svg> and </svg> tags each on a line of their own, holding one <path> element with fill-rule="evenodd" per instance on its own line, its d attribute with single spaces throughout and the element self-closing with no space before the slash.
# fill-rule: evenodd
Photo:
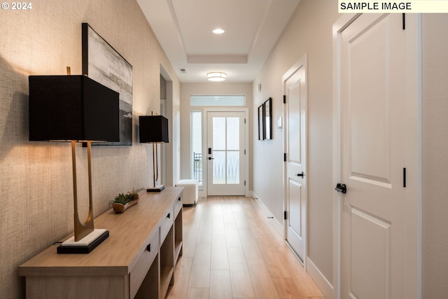
<svg viewBox="0 0 448 299">
<path fill-rule="evenodd" d="M 132 146 L 132 65 L 102 36 L 83 23 L 83 74 L 120 94 L 120 141 L 101 146 Z"/>
</svg>

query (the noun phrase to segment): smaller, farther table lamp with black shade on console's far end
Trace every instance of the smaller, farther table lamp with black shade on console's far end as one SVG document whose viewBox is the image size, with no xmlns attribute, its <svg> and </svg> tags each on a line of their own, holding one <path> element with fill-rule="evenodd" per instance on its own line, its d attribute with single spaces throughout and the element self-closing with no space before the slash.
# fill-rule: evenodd
<svg viewBox="0 0 448 299">
<path fill-rule="evenodd" d="M 160 192 L 165 186 L 155 186 L 159 179 L 157 144 L 168 143 L 168 120 L 163 116 L 139 116 L 141 144 L 153 144 L 153 187 L 148 192 Z"/>
</svg>

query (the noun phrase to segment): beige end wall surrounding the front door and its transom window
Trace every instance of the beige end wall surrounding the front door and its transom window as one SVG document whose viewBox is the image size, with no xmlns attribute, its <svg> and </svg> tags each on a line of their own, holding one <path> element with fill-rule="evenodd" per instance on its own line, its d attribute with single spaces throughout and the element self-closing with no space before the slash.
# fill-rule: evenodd
<svg viewBox="0 0 448 299">
<path fill-rule="evenodd" d="M 246 106 L 252 106 L 252 83 L 182 83 L 181 85 L 181 179 L 193 179 L 191 177 L 192 165 L 191 157 L 191 111 L 202 111 L 206 107 L 190 106 L 190 97 L 192 95 L 245 95 Z M 216 107 L 218 108 L 218 107 Z M 252 115 L 250 116 L 252 117 Z M 249 122 L 248 122 L 249 123 Z M 249 137 L 252 136 L 252 130 L 249 129 Z M 249 139 L 249 148 L 252 148 L 251 139 Z M 251 159 L 251 156 L 249 155 Z M 249 161 L 249 190 L 252 190 L 252 162 Z M 202 188 L 200 188 L 202 190 Z M 204 193 L 200 192 L 201 196 Z"/>
</svg>

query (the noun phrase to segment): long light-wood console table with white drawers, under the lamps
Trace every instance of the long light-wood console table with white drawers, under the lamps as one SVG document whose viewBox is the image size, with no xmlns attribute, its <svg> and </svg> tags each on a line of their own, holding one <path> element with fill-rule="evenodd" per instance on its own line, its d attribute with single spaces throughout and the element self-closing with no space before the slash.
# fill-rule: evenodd
<svg viewBox="0 0 448 299">
<path fill-rule="evenodd" d="M 27 299 L 165 298 L 182 254 L 182 190 L 140 193 L 125 213 L 95 218 L 110 235 L 88 254 L 57 254 L 55 244 L 20 265 Z"/>
</svg>

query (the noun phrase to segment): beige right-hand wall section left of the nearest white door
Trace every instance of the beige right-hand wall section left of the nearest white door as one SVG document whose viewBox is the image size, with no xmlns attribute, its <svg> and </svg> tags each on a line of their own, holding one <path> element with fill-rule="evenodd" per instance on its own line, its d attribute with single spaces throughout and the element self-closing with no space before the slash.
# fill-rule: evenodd
<svg viewBox="0 0 448 299">
<path fill-rule="evenodd" d="M 307 54 L 308 258 L 332 284 L 332 25 L 339 18 L 330 0 L 302 0 L 256 78 L 252 115 L 272 97 L 274 124 L 283 116 L 281 77 Z M 252 120 L 256 126 L 256 120 Z M 272 141 L 253 136 L 253 191 L 276 219 L 283 219 L 283 130 Z M 269 169 L 269 172 L 265 171 Z"/>
</svg>

